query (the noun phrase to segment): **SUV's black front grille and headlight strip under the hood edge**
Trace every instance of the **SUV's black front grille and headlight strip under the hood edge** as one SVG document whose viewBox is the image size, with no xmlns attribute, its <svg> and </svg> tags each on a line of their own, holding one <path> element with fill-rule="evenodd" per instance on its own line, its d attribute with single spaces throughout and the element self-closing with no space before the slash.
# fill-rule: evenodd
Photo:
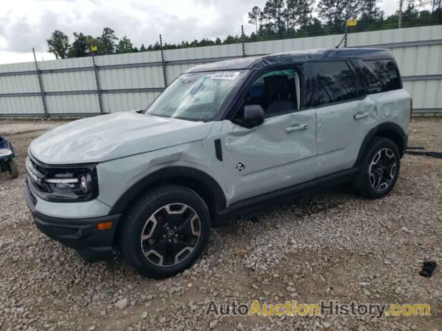
<svg viewBox="0 0 442 331">
<path fill-rule="evenodd" d="M 95 165 L 50 166 L 26 160 L 30 181 L 41 199 L 48 201 L 88 201 L 98 196 Z"/>
</svg>

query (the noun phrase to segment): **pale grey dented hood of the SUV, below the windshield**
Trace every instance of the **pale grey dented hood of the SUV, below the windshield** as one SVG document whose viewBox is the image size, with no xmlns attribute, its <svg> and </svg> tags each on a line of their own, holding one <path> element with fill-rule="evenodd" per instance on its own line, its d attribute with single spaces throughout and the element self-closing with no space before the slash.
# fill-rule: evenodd
<svg viewBox="0 0 442 331">
<path fill-rule="evenodd" d="M 32 141 L 30 152 L 48 164 L 102 162 L 204 139 L 212 125 L 119 112 L 50 130 Z"/>
</svg>

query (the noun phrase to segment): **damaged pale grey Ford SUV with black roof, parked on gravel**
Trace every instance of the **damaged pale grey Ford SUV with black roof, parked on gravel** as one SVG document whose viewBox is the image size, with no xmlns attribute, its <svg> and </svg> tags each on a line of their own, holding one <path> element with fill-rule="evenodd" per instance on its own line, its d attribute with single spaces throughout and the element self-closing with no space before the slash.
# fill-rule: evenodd
<svg viewBox="0 0 442 331">
<path fill-rule="evenodd" d="M 267 203 L 398 178 L 410 95 L 383 49 L 310 50 L 191 68 L 146 110 L 73 121 L 28 150 L 37 227 L 87 261 L 146 277 L 202 253 L 211 227 Z"/>
</svg>

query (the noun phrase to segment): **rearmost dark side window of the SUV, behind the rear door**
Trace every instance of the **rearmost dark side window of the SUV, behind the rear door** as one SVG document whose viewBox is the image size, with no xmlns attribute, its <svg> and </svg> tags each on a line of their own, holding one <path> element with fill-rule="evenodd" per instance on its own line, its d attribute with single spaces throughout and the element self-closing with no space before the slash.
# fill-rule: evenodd
<svg viewBox="0 0 442 331">
<path fill-rule="evenodd" d="M 364 61 L 367 67 L 374 72 L 381 83 L 381 88 L 369 90 L 371 93 L 387 92 L 402 88 L 401 77 L 399 76 L 396 62 L 393 59 Z"/>
</svg>

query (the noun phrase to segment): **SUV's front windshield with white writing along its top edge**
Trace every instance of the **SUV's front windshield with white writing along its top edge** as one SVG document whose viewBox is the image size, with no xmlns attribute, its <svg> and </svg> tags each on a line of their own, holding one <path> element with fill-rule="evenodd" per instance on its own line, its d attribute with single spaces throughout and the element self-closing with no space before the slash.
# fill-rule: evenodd
<svg viewBox="0 0 442 331">
<path fill-rule="evenodd" d="M 246 73 L 247 70 L 182 74 L 153 101 L 146 114 L 209 121 Z"/>
</svg>

